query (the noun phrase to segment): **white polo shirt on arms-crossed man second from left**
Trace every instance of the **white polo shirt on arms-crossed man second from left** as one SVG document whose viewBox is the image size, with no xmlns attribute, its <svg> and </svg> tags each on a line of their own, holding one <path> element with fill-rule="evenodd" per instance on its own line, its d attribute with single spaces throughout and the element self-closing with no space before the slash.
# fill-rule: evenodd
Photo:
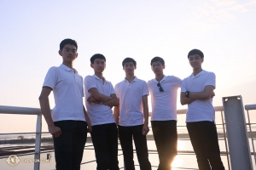
<svg viewBox="0 0 256 170">
<path fill-rule="evenodd" d="M 113 123 L 113 111 L 108 105 L 101 104 L 90 104 L 87 99 L 90 97 L 88 92 L 90 88 L 97 88 L 100 94 L 110 96 L 114 94 L 113 85 L 107 80 L 102 82 L 102 79 L 96 75 L 87 76 L 84 78 L 84 94 L 85 94 L 85 105 L 87 108 L 88 116 L 90 117 L 91 125 L 102 125 L 107 123 Z"/>
</svg>

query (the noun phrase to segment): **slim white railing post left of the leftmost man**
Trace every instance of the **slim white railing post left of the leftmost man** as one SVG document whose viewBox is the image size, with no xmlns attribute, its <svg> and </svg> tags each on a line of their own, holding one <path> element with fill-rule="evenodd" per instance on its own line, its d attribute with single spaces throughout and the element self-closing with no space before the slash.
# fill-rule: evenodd
<svg viewBox="0 0 256 170">
<path fill-rule="evenodd" d="M 35 159 L 34 170 L 40 169 L 41 132 L 42 132 L 42 114 L 38 114 L 37 129 L 36 129 L 35 156 L 34 156 L 34 159 Z"/>
</svg>

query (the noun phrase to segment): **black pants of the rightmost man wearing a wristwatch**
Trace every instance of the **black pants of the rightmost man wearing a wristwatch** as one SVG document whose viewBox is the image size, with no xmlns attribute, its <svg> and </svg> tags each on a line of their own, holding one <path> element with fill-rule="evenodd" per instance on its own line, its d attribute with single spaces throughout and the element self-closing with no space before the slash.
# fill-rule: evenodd
<svg viewBox="0 0 256 170">
<path fill-rule="evenodd" d="M 188 122 L 189 137 L 201 170 L 224 170 L 214 122 Z"/>
</svg>

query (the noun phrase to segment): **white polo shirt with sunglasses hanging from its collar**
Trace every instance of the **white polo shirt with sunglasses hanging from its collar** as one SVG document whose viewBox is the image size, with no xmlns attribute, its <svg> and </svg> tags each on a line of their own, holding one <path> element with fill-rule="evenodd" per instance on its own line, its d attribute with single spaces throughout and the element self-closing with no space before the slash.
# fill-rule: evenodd
<svg viewBox="0 0 256 170">
<path fill-rule="evenodd" d="M 173 76 L 163 77 L 160 80 L 163 92 L 160 92 L 158 83 L 155 78 L 148 81 L 152 103 L 151 121 L 177 120 L 177 88 L 181 87 L 182 80 Z"/>
</svg>

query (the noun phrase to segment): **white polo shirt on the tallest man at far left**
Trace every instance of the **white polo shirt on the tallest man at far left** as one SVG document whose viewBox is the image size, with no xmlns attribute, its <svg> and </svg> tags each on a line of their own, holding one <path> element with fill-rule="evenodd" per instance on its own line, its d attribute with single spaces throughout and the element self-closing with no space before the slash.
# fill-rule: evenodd
<svg viewBox="0 0 256 170">
<path fill-rule="evenodd" d="M 85 121 L 83 77 L 66 65 L 51 67 L 44 78 L 43 87 L 53 89 L 55 107 L 51 111 L 54 122 Z"/>
</svg>

